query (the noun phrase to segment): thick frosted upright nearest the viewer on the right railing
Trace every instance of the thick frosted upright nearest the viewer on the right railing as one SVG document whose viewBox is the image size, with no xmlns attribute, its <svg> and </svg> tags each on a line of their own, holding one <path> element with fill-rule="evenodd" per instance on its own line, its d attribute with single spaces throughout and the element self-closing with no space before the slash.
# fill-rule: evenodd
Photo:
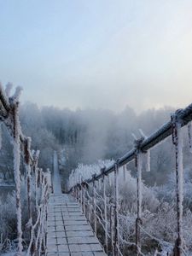
<svg viewBox="0 0 192 256">
<path fill-rule="evenodd" d="M 183 136 L 182 121 L 177 110 L 172 114 L 172 143 L 175 145 L 176 156 L 176 184 L 177 184 L 177 240 L 175 242 L 174 255 L 183 255 Z"/>
</svg>

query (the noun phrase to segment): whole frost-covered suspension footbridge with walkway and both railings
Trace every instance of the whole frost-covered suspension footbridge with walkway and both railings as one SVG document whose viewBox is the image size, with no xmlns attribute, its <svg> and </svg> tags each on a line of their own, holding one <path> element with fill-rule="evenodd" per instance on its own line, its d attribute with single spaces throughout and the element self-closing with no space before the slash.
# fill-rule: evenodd
<svg viewBox="0 0 192 256">
<path fill-rule="evenodd" d="M 167 252 L 166 255 L 186 255 L 183 240 L 182 128 L 185 125 L 188 127 L 189 148 L 191 149 L 192 104 L 173 113 L 171 119 L 159 130 L 154 131 L 151 136 L 145 137 L 142 134 L 139 139 L 135 138 L 135 145 L 131 151 L 116 160 L 112 166 L 101 168 L 99 173 L 94 173 L 90 178 L 72 172 L 67 184 L 68 194 L 62 194 L 57 154 L 54 153 L 53 178 L 51 178 L 49 170 L 43 171 L 38 166 L 39 151 L 31 150 L 31 139 L 22 133 L 19 119 L 21 90 L 16 88 L 15 94 L 10 96 L 11 88 L 11 84 L 8 84 L 5 90 L 0 85 L 0 119 L 9 131 L 14 148 L 17 255 L 102 256 L 108 254 L 117 256 L 128 255 L 126 247 L 132 247 L 132 253 L 129 255 L 145 255 L 141 241 L 141 231 L 144 231 L 141 184 L 143 155 L 148 158 L 146 168 L 149 169 L 150 149 L 170 136 L 172 136 L 172 144 L 175 148 L 176 162 L 177 239 L 172 245 L 172 253 Z M 26 227 L 30 237 L 25 249 L 23 247 L 20 195 L 20 158 L 23 158 L 26 168 L 28 208 Z M 136 236 L 134 241 L 127 241 L 121 235 L 119 228 L 119 172 L 124 172 L 125 175 L 125 165 L 132 160 L 135 160 L 137 168 Z M 113 198 L 109 199 L 106 186 L 111 173 L 113 173 Z M 51 186 L 51 180 L 53 186 Z M 34 189 L 35 201 L 32 200 L 32 189 Z M 102 206 L 98 203 L 98 199 L 102 201 Z M 36 214 L 32 214 L 33 210 Z M 159 243 L 166 243 L 166 241 L 160 241 L 156 237 L 153 239 Z M 155 250 L 154 255 L 161 254 Z"/>
</svg>

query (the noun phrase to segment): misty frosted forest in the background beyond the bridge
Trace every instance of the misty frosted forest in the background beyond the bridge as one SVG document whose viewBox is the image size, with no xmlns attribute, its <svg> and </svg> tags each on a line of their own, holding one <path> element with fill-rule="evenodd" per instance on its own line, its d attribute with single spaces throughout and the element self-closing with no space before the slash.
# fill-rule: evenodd
<svg viewBox="0 0 192 256">
<path fill-rule="evenodd" d="M 117 159 L 133 147 L 134 133 L 139 129 L 148 136 L 170 119 L 173 108 L 149 109 L 135 113 L 125 108 L 120 113 L 104 109 L 38 108 L 26 102 L 20 106 L 23 132 L 32 137 L 32 148 L 40 149 L 39 166 L 52 169 L 53 150 L 60 154 L 61 174 L 68 173 L 79 163 L 92 164 L 97 160 Z M 3 150 L 0 151 L 2 177 L 13 176 L 12 146 L 3 129 Z M 169 139 L 170 140 L 170 139 Z M 187 154 L 188 155 L 188 154 Z M 187 159 L 187 157 L 186 157 Z M 151 154 L 152 170 L 144 177 L 150 184 L 163 183 L 165 173 L 172 171 L 172 143 L 162 143 Z M 133 167 L 134 170 L 134 167 Z"/>
</svg>

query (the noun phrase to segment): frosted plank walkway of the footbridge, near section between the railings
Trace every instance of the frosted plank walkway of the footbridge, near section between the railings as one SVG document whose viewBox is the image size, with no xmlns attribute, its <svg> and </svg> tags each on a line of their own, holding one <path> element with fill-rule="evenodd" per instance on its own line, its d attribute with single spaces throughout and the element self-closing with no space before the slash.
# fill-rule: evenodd
<svg viewBox="0 0 192 256">
<path fill-rule="evenodd" d="M 106 255 L 72 195 L 52 194 L 50 196 L 46 255 Z"/>
</svg>

